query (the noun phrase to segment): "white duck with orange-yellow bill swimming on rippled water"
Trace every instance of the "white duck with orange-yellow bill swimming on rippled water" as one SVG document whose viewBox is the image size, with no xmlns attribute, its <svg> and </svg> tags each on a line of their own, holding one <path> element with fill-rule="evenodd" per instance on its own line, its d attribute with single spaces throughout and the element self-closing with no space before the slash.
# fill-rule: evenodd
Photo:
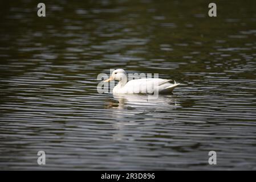
<svg viewBox="0 0 256 182">
<path fill-rule="evenodd" d="M 119 83 L 113 88 L 113 94 L 166 94 L 172 92 L 179 83 L 170 84 L 166 79 L 161 78 L 141 78 L 128 81 L 127 74 L 123 69 L 116 69 L 112 75 L 104 82 L 117 80 Z M 128 82 L 127 82 L 128 81 Z"/>
</svg>

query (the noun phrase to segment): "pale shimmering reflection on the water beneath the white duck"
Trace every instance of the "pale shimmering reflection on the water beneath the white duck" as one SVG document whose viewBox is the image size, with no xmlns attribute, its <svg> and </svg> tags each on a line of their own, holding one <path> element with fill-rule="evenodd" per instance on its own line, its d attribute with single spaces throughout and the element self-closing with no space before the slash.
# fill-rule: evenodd
<svg viewBox="0 0 256 182">
<path fill-rule="evenodd" d="M 156 97 L 139 94 L 115 94 L 113 99 L 113 103 L 109 104 L 108 108 L 112 109 L 111 117 L 115 119 L 113 128 L 116 132 L 112 135 L 115 141 L 135 139 L 137 133 L 140 133 L 141 127 L 145 130 L 143 125 L 159 122 L 162 117 L 168 117 L 170 110 L 180 105 L 176 96 L 173 95 Z M 160 117 L 156 117 L 157 115 Z"/>
</svg>

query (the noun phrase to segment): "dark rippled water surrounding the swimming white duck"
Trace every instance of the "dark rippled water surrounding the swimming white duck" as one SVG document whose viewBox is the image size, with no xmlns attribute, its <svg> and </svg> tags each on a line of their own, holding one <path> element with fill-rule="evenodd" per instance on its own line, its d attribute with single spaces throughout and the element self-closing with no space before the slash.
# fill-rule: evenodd
<svg viewBox="0 0 256 182">
<path fill-rule="evenodd" d="M 255 170 L 255 2 L 215 2 L 217 18 L 204 1 L 52 1 L 45 18 L 1 2 L 0 169 Z M 113 68 L 182 85 L 97 93 Z"/>
</svg>

